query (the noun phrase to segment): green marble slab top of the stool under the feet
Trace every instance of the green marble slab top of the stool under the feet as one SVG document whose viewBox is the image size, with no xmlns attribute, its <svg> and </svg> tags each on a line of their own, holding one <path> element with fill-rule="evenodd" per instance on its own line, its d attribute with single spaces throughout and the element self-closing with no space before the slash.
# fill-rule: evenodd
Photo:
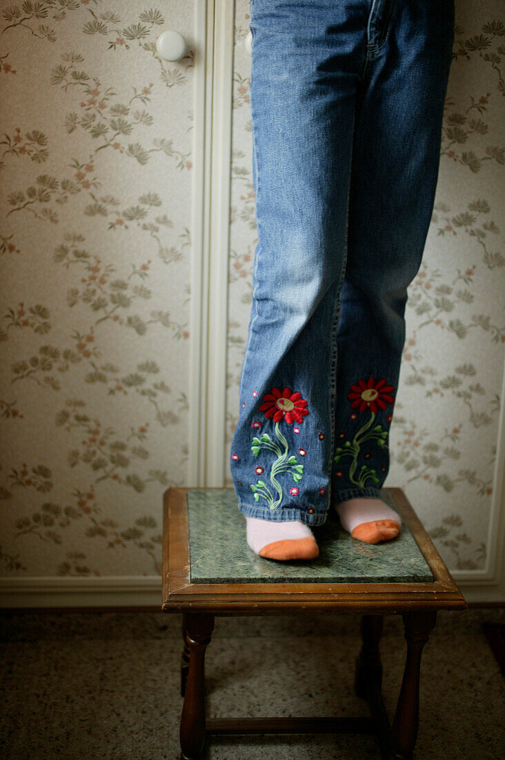
<svg viewBox="0 0 505 760">
<path fill-rule="evenodd" d="M 398 511 L 388 489 L 380 498 Z M 314 527 L 319 556 L 276 562 L 245 540 L 245 516 L 234 489 L 188 489 L 191 583 L 431 583 L 434 577 L 406 524 L 392 541 L 368 544 L 340 526 L 334 510 Z"/>
</svg>

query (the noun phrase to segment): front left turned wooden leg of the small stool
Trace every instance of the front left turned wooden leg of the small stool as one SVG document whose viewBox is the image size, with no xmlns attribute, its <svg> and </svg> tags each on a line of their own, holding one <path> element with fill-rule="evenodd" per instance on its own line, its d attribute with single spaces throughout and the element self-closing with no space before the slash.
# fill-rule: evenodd
<svg viewBox="0 0 505 760">
<path fill-rule="evenodd" d="M 197 760 L 205 741 L 204 657 L 214 628 L 210 613 L 186 614 L 189 671 L 181 715 L 181 760 Z"/>
</svg>

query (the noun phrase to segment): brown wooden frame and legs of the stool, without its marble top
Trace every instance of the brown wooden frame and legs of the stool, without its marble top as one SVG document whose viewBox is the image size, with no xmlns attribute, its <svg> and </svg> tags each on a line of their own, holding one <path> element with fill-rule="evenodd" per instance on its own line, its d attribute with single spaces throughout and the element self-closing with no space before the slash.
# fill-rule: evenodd
<svg viewBox="0 0 505 760">
<path fill-rule="evenodd" d="M 191 489 L 192 490 L 192 489 Z M 219 489 L 223 490 L 223 489 Z M 464 610 L 443 560 L 402 489 L 387 489 L 396 511 L 428 562 L 431 583 L 191 583 L 188 508 L 185 488 L 170 488 L 163 506 L 164 612 L 183 613 L 181 659 L 181 760 L 197 760 L 207 736 L 282 733 L 374 733 L 380 756 L 412 760 L 418 734 L 422 650 L 437 610 Z M 356 659 L 355 692 L 367 701 L 370 717 L 206 718 L 204 657 L 216 615 L 264 615 L 311 611 L 362 613 L 361 651 Z M 406 664 L 393 725 L 381 691 L 379 641 L 383 615 L 401 614 L 407 643 Z"/>
</svg>

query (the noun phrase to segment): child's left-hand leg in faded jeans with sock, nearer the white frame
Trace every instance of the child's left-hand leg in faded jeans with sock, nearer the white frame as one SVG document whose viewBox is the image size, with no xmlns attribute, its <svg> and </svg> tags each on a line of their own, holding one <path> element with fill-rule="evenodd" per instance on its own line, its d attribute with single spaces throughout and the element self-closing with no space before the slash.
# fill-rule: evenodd
<svg viewBox="0 0 505 760">
<path fill-rule="evenodd" d="M 359 24 L 355 5 L 251 4 L 258 245 L 230 464 L 238 508 L 255 519 L 250 546 L 263 556 L 279 541 L 314 555 L 309 528 L 329 510 L 338 294 L 366 46 L 368 4 L 358 4 Z"/>
</svg>

